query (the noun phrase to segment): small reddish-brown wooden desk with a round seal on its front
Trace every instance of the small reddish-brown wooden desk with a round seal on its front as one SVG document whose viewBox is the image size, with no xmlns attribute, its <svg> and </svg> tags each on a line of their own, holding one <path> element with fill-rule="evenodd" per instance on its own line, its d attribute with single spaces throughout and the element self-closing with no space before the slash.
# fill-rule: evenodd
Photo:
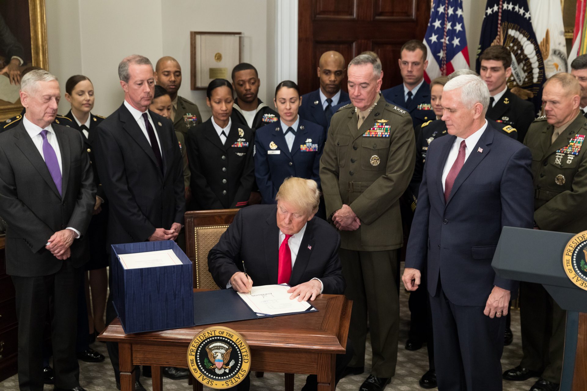
<svg viewBox="0 0 587 391">
<path fill-rule="evenodd" d="M 197 291 L 197 290 L 194 290 Z M 352 302 L 344 295 L 319 295 L 319 312 L 223 323 L 251 348 L 251 370 L 318 375 L 318 390 L 335 389 L 335 356 L 344 353 Z M 118 318 L 98 336 L 118 342 L 122 391 L 134 390 L 136 365 L 151 365 L 153 391 L 161 391 L 161 366 L 187 366 L 187 348 L 211 325 L 125 335 Z M 202 384 L 193 380 L 194 390 Z"/>
</svg>

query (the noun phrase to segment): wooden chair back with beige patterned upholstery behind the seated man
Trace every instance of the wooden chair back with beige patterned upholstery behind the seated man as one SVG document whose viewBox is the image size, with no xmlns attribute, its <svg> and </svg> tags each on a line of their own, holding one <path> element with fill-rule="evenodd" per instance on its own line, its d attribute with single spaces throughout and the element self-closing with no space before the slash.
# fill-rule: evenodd
<svg viewBox="0 0 587 391">
<path fill-rule="evenodd" d="M 219 289 L 208 271 L 208 252 L 237 215 L 238 209 L 185 212 L 185 252 L 193 263 L 194 288 Z"/>
</svg>

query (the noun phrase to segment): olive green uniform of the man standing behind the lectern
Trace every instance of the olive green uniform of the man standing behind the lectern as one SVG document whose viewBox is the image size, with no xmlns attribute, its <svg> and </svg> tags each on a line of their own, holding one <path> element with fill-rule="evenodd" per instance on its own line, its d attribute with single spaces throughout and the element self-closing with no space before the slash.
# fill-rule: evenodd
<svg viewBox="0 0 587 391">
<path fill-rule="evenodd" d="M 524 144 L 532 151 L 534 221 L 539 229 L 579 233 L 587 230 L 587 119 L 579 113 L 552 143 L 554 126 L 544 117 L 529 127 Z M 552 145 L 551 145 L 552 143 Z M 542 285 L 520 284 L 522 351 L 520 365 L 561 382 L 565 311 Z"/>
</svg>

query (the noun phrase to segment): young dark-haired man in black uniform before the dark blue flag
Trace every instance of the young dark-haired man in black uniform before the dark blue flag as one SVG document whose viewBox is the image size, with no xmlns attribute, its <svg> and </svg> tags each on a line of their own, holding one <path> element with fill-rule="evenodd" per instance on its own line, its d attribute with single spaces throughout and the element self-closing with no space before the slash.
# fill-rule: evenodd
<svg viewBox="0 0 587 391">
<path fill-rule="evenodd" d="M 501 45 L 490 46 L 481 53 L 479 59 L 479 74 L 487 83 L 491 96 L 487 118 L 516 128 L 518 140 L 524 141 L 536 113 L 531 101 L 519 98 L 508 89 L 507 81 L 512 74 L 510 51 Z"/>
</svg>

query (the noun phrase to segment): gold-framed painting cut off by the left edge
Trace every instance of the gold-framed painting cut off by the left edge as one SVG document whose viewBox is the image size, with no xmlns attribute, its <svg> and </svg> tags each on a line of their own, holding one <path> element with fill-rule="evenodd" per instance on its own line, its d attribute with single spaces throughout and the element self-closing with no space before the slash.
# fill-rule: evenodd
<svg viewBox="0 0 587 391">
<path fill-rule="evenodd" d="M 30 66 L 47 69 L 45 0 L 0 2 L 0 70 L 6 70 L 15 57 L 22 59 L 18 65 L 21 71 Z M 21 112 L 19 90 L 18 84 L 0 74 L 0 120 Z"/>
</svg>

